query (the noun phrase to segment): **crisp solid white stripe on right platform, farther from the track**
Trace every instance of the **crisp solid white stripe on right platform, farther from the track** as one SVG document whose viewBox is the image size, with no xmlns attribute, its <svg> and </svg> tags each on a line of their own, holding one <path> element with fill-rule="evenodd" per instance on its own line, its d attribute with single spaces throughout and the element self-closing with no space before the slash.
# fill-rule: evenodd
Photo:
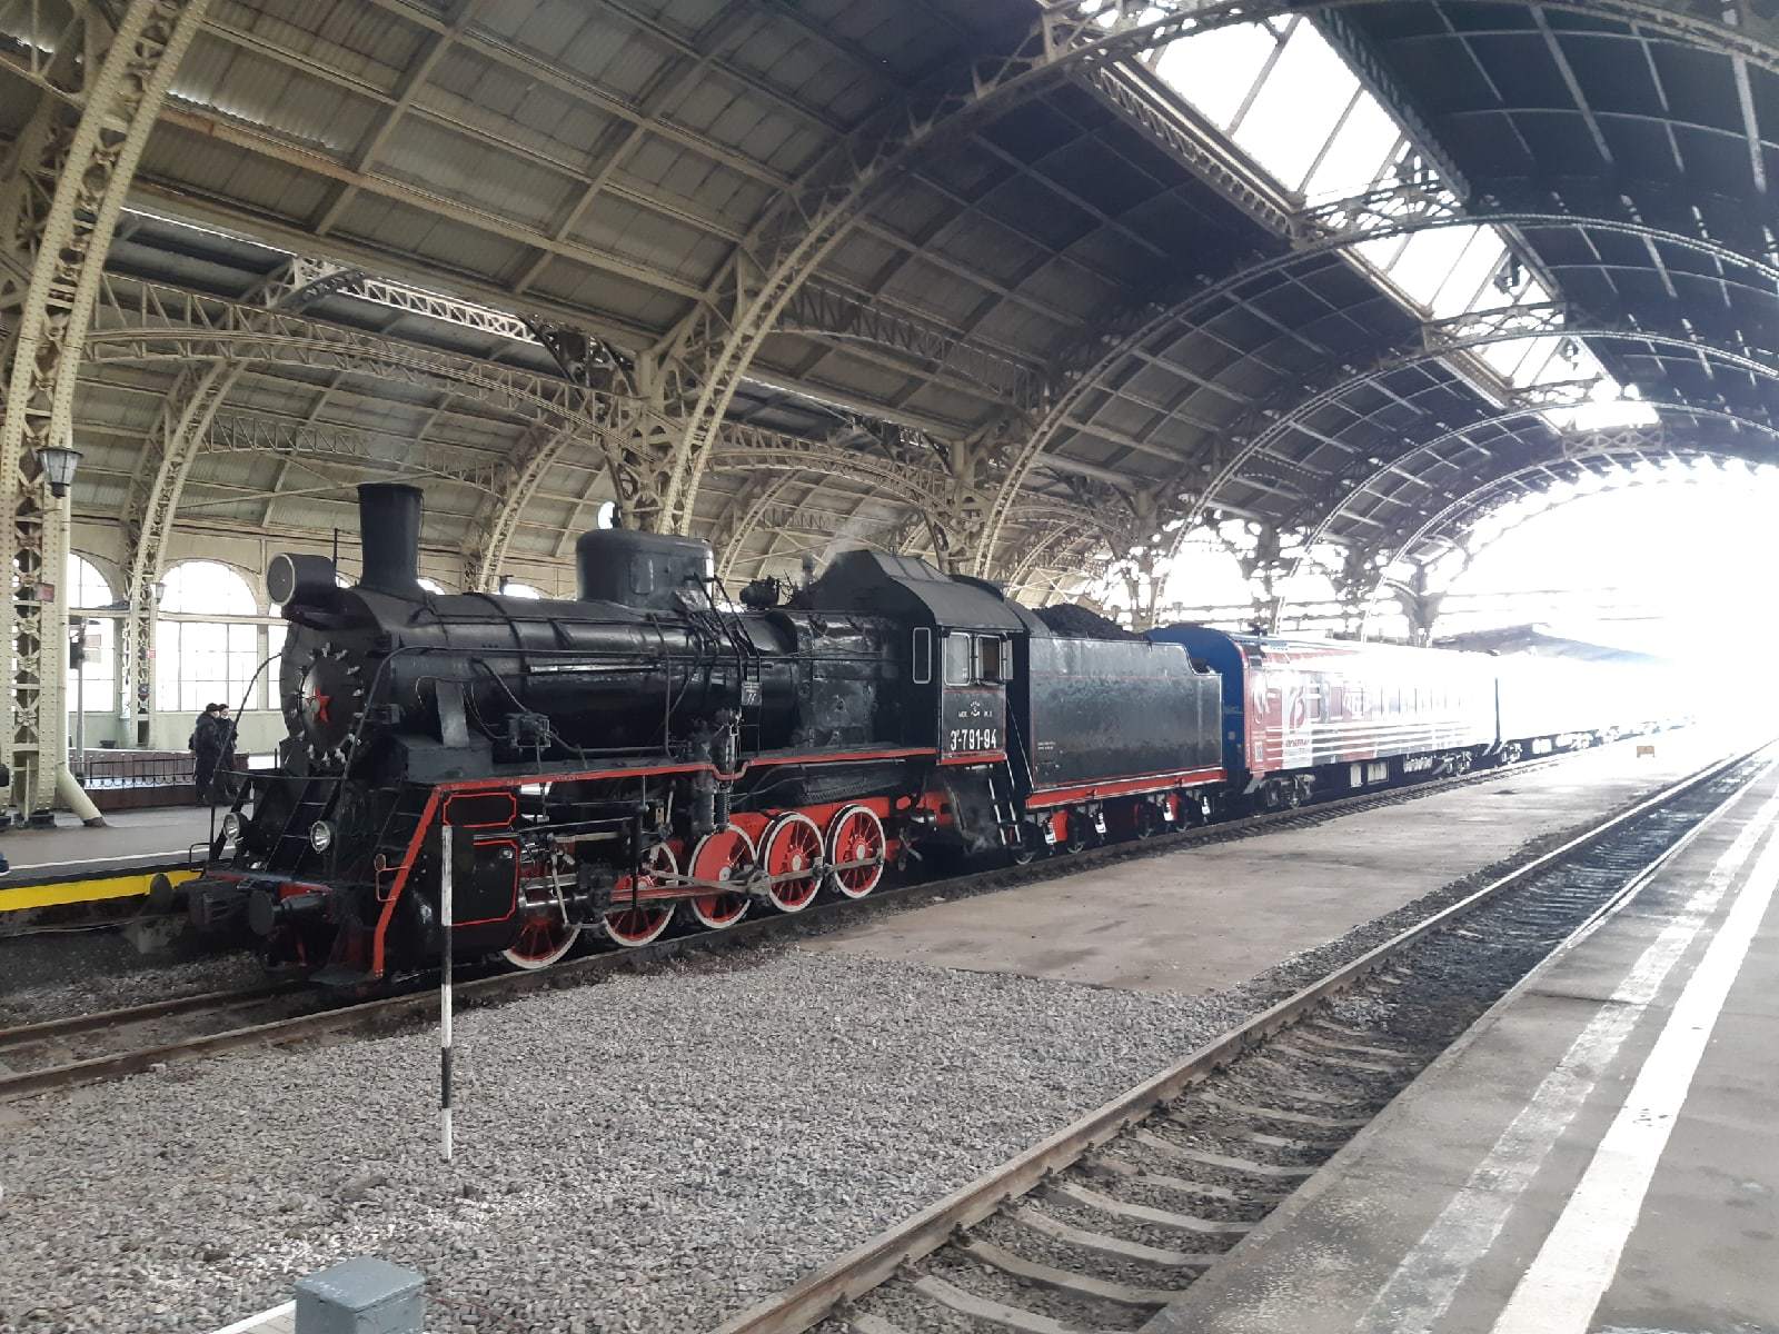
<svg viewBox="0 0 1779 1334">
<path fill-rule="evenodd" d="M 1642 1215 L 1656 1163 L 1692 1090 L 1729 989 L 1772 905 L 1775 884 L 1779 843 L 1768 843 L 1674 1001 L 1630 1097 L 1594 1149 L 1569 1204 L 1494 1322 L 1494 1334 L 1587 1330 L 1599 1298 L 1619 1272 L 1619 1256 Z"/>
</svg>

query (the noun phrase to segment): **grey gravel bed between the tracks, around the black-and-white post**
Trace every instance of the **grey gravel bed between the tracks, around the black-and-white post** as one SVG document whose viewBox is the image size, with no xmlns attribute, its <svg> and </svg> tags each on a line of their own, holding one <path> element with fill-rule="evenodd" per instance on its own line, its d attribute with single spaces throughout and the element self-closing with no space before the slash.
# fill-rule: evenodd
<svg viewBox="0 0 1779 1334">
<path fill-rule="evenodd" d="M 336 1258 L 429 1277 L 432 1334 L 697 1330 L 1240 1016 L 801 950 L 173 1067 L 0 1108 L 0 1330 L 210 1330 Z"/>
</svg>

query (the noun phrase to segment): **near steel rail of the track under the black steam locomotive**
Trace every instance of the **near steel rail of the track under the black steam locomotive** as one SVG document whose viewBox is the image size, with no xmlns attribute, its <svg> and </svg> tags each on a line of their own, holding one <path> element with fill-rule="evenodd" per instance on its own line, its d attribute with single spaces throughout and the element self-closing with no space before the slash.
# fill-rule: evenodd
<svg viewBox="0 0 1779 1334">
<path fill-rule="evenodd" d="M 1413 800 L 1416 797 L 1432 795 L 1436 792 L 1450 792 L 1455 788 L 1471 786 L 1475 783 L 1487 783 L 1491 779 L 1498 779 L 1507 774 L 1519 775 L 1535 772 L 1539 768 L 1546 768 L 1550 765 L 1557 765 L 1564 759 L 1569 759 L 1574 754 L 1580 752 L 1564 752 L 1551 756 L 1548 759 L 1512 765 L 1509 768 L 1471 770 L 1469 774 L 1448 779 L 1423 781 L 1404 788 L 1389 788 L 1384 792 L 1354 793 L 1350 797 L 1311 802 L 1309 806 L 1292 808 L 1284 811 L 1268 811 L 1265 815 L 1252 815 L 1211 825 L 1195 825 L 1192 829 L 1183 829 L 1179 832 L 1158 834 L 1147 840 L 1110 843 L 1096 848 L 1087 848 L 1083 852 L 1076 852 L 1067 857 L 1032 863 L 1026 866 L 991 868 L 991 870 L 946 877 L 941 880 L 923 880 L 918 884 L 895 886 L 890 889 L 879 889 L 866 898 L 833 900 L 825 904 L 817 904 L 809 909 L 804 909 L 802 912 L 754 918 L 751 921 L 742 921 L 726 930 L 703 930 L 688 936 L 680 936 L 674 939 L 655 941 L 651 944 L 639 946 L 633 950 L 612 950 L 607 953 L 584 955 L 580 959 L 569 959 L 566 962 L 539 971 L 496 973 L 493 976 L 484 976 L 459 984 L 455 987 L 457 1007 L 468 1009 L 473 1005 L 482 1005 L 496 1000 L 527 996 L 537 991 L 555 991 L 560 987 L 582 985 L 585 982 L 592 982 L 603 976 L 614 976 L 626 971 L 646 971 L 648 968 L 660 964 L 667 959 L 676 959 L 690 953 L 713 952 L 713 950 L 742 948 L 777 934 L 806 932 L 809 928 L 822 928 L 841 920 L 854 920 L 856 914 L 861 912 L 882 911 L 886 907 L 913 905 L 918 904 L 923 895 L 927 896 L 945 895 L 946 898 L 957 898 L 959 895 L 986 893 L 993 889 L 1014 888 L 1019 884 L 1055 879 L 1059 875 L 1071 875 L 1082 870 L 1094 870 L 1096 866 L 1103 866 L 1112 861 L 1121 861 L 1124 857 L 1155 856 L 1160 852 L 1178 850 L 1183 847 L 1194 847 L 1197 843 L 1217 843 L 1224 840 L 1245 838 L 1249 834 L 1265 832 L 1274 827 L 1322 824 L 1340 815 L 1352 815 L 1379 806 L 1395 806 L 1400 802 Z M 301 991 L 301 985 L 294 987 L 292 991 Z M 228 998 L 231 992 L 217 992 L 217 994 Z M 192 1009 L 197 1007 L 194 1005 Z M 153 1065 L 183 1060 L 190 1057 L 206 1057 L 246 1048 L 279 1046 L 288 1042 L 299 1042 L 310 1037 L 318 1037 L 324 1033 L 340 1033 L 350 1030 L 375 1032 L 381 1028 L 390 1028 L 407 1023 L 411 1019 L 432 1017 L 436 1010 L 438 1010 L 436 989 L 432 989 L 431 985 L 422 985 L 416 991 L 404 991 L 395 996 L 377 996 L 372 1000 L 358 1001 L 354 1005 L 336 1005 L 317 1010 L 313 1014 L 272 1019 L 269 1023 L 247 1025 L 215 1033 L 201 1033 L 196 1037 L 174 1042 L 164 1042 L 151 1048 L 139 1048 L 112 1055 L 89 1057 L 85 1060 L 68 1062 L 64 1065 L 46 1065 L 34 1071 L 0 1074 L 0 1103 L 16 1097 L 27 1097 L 30 1094 L 66 1089 L 80 1083 L 94 1083 L 101 1080 L 117 1080 L 130 1074 L 141 1074 L 142 1071 L 148 1071 Z M 80 1025 L 87 1017 L 100 1021 L 103 1019 L 103 1016 L 78 1016 L 66 1023 Z M 98 1028 L 103 1025 L 94 1023 L 87 1026 Z"/>
</svg>

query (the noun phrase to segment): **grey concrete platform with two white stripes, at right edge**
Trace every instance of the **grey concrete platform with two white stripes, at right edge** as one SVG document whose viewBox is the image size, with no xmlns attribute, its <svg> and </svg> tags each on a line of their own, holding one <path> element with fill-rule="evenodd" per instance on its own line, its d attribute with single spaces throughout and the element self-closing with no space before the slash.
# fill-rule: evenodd
<svg viewBox="0 0 1779 1334">
<path fill-rule="evenodd" d="M 1779 1329 L 1779 770 L 1147 1334 Z"/>
</svg>

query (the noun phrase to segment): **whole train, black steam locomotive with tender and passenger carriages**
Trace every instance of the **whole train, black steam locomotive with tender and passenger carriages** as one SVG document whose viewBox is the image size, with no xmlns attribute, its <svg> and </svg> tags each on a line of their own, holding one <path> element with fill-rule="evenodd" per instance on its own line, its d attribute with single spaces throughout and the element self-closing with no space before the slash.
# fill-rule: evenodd
<svg viewBox="0 0 1779 1334">
<path fill-rule="evenodd" d="M 454 950 L 546 968 L 582 932 L 863 898 L 941 848 L 1023 861 L 1519 743 L 1478 655 L 1386 651 L 1395 694 L 1368 694 L 1377 649 L 1135 637 L 875 551 L 735 610 L 704 542 L 621 528 L 576 542 L 573 601 L 429 594 L 420 516 L 359 487 L 354 587 L 272 562 L 288 735 L 185 886 L 199 928 L 324 984 L 439 955 L 447 825 Z"/>
</svg>

